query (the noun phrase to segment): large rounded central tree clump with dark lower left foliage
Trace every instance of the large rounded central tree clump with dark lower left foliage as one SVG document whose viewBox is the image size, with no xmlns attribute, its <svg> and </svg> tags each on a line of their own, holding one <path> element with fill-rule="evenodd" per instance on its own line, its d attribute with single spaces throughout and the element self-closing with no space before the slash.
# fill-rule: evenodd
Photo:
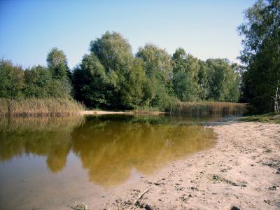
<svg viewBox="0 0 280 210">
<path fill-rule="evenodd" d="M 146 76 L 130 44 L 120 34 L 107 31 L 90 42 L 90 51 L 73 72 L 76 99 L 111 109 L 140 106 Z"/>
</svg>

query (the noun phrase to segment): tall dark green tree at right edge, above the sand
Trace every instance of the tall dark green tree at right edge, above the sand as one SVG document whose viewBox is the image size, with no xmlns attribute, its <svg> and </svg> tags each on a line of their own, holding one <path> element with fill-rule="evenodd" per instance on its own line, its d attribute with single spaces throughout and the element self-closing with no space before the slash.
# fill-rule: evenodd
<svg viewBox="0 0 280 210">
<path fill-rule="evenodd" d="M 257 1 L 245 12 L 239 26 L 244 49 L 240 59 L 246 65 L 242 91 L 255 112 L 273 111 L 276 87 L 280 85 L 280 1 Z"/>
</svg>

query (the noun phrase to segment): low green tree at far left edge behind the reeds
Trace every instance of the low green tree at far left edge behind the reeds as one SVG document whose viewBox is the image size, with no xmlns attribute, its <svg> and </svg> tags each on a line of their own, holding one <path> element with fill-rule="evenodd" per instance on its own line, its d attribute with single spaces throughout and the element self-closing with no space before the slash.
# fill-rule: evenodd
<svg viewBox="0 0 280 210">
<path fill-rule="evenodd" d="M 25 87 L 24 71 L 20 66 L 13 66 L 12 62 L 0 60 L 0 97 L 16 99 L 23 97 Z"/>
</svg>

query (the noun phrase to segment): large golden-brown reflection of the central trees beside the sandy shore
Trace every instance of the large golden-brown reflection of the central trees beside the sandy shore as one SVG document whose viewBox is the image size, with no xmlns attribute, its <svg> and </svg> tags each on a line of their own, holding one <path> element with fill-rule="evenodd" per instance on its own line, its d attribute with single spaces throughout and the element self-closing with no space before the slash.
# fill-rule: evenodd
<svg viewBox="0 0 280 210">
<path fill-rule="evenodd" d="M 127 122 L 127 119 L 130 120 Z M 72 137 L 73 151 L 89 170 L 90 181 L 103 186 L 125 181 L 133 168 L 149 174 L 169 161 L 214 144 L 212 130 L 198 125 L 172 124 L 166 122 L 168 118 L 141 116 L 102 120 L 90 119 L 78 127 Z"/>
</svg>

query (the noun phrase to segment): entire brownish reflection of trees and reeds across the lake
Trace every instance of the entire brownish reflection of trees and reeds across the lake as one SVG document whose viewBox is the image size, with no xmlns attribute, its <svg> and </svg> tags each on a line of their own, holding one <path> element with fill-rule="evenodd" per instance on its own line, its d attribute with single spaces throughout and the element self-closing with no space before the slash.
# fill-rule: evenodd
<svg viewBox="0 0 280 210">
<path fill-rule="evenodd" d="M 132 169 L 149 174 L 167 162 L 214 144 L 214 133 L 197 122 L 158 116 L 23 119 L 1 123 L 0 160 L 27 153 L 47 157 L 51 172 L 71 151 L 102 186 L 122 183 Z M 185 126 L 188 125 L 188 126 Z"/>
</svg>

